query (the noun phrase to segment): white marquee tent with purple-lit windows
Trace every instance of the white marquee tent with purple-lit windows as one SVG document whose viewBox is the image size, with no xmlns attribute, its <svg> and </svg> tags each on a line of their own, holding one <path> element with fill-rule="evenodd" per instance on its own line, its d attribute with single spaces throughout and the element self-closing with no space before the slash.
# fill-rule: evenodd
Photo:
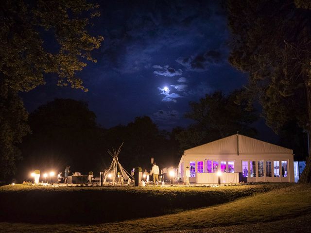
<svg viewBox="0 0 311 233">
<path fill-rule="evenodd" d="M 293 150 L 263 142 L 241 134 L 185 150 L 179 162 L 179 176 L 190 182 L 222 183 L 294 182 Z"/>
</svg>

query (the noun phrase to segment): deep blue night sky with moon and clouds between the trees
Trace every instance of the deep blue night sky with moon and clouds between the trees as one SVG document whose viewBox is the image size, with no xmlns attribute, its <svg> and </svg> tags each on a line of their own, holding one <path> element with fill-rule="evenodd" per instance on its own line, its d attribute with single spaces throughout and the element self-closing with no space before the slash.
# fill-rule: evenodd
<svg viewBox="0 0 311 233">
<path fill-rule="evenodd" d="M 214 1 L 97 1 L 103 35 L 97 63 L 77 75 L 87 93 L 57 87 L 56 77 L 23 93 L 29 112 L 54 98 L 85 100 L 105 128 L 150 116 L 160 129 L 187 126 L 189 101 L 242 87 L 247 75 L 231 67 L 225 11 Z M 51 42 L 52 43 L 52 42 Z M 46 46 L 49 46 L 47 43 Z"/>
</svg>

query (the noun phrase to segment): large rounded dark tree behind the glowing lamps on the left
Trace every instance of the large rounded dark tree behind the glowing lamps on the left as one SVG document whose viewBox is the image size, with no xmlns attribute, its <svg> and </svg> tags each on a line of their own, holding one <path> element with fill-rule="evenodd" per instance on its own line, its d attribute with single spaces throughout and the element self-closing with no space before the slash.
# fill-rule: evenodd
<svg viewBox="0 0 311 233">
<path fill-rule="evenodd" d="M 86 102 L 55 99 L 31 113 L 29 125 L 33 133 L 21 144 L 21 177 L 36 168 L 62 171 L 68 164 L 85 174 L 100 171 L 104 130 Z"/>
</svg>

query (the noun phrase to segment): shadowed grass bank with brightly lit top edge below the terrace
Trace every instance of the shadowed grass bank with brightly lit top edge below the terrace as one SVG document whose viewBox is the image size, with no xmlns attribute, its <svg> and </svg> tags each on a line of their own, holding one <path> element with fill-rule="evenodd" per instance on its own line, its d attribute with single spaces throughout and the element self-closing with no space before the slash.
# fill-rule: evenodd
<svg viewBox="0 0 311 233">
<path fill-rule="evenodd" d="M 33 223 L 121 221 L 207 207 L 291 185 L 293 184 L 222 187 L 8 185 L 0 187 L 0 220 Z"/>
</svg>

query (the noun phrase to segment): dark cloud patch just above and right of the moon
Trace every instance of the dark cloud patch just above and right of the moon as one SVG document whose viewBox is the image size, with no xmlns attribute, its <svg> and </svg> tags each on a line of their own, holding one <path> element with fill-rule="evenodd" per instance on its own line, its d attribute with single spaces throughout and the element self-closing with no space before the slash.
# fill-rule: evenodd
<svg viewBox="0 0 311 233">
<path fill-rule="evenodd" d="M 204 71 L 212 65 L 224 62 L 224 55 L 218 50 L 208 50 L 190 57 L 178 57 L 176 62 L 187 68 L 187 70 Z"/>
</svg>

